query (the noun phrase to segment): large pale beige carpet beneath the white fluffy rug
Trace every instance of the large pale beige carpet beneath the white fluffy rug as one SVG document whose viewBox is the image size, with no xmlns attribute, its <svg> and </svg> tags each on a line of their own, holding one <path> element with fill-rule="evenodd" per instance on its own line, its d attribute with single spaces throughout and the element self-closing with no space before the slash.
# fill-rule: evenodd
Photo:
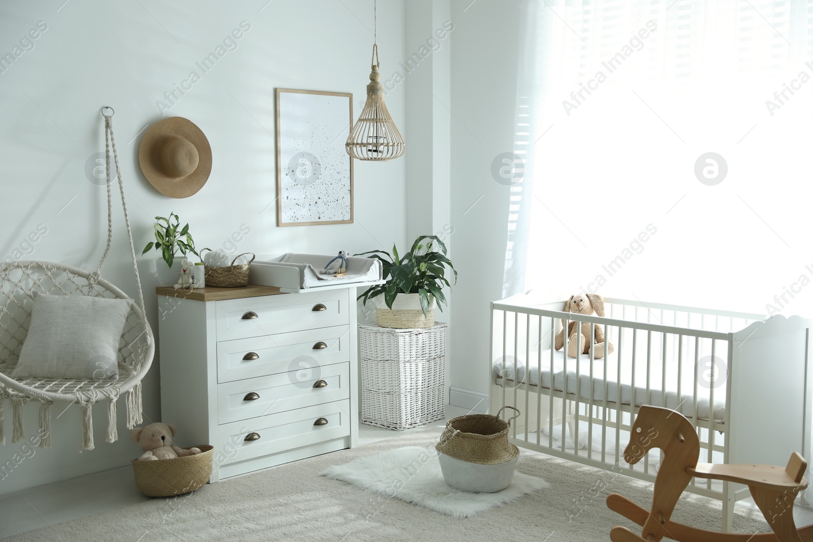
<svg viewBox="0 0 813 542">
<path fill-rule="evenodd" d="M 326 453 L 254 475 L 212 483 L 190 496 L 153 499 L 10 539 L 20 542 L 607 542 L 610 529 L 632 522 L 607 509 L 608 493 L 646 505 L 652 484 L 613 472 L 523 452 L 517 472 L 545 479 L 550 488 L 472 518 L 450 518 L 398 499 L 351 488 L 320 476 L 333 465 L 389 449 L 433 446 L 441 431 L 422 431 L 359 448 Z M 105 488 L 98 488 L 104 492 Z M 684 493 L 676 521 L 720 531 L 720 501 Z M 737 506 L 734 527 L 770 531 L 759 511 Z M 0 509 L 0 522 L 3 520 Z"/>
</svg>

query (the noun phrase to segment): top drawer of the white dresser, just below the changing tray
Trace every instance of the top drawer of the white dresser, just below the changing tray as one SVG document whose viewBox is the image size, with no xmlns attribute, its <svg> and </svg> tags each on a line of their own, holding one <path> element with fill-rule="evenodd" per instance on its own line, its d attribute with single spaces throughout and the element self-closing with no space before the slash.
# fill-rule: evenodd
<svg viewBox="0 0 813 542">
<path fill-rule="evenodd" d="M 338 289 L 215 301 L 217 340 L 349 325 L 347 299 L 347 290 Z"/>
</svg>

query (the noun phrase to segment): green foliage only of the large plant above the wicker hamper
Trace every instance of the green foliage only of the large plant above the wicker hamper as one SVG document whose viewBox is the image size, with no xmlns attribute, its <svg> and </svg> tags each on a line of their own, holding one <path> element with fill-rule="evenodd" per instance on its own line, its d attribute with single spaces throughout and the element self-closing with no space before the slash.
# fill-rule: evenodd
<svg viewBox="0 0 813 542">
<path fill-rule="evenodd" d="M 428 241 L 427 241 L 428 240 Z M 441 252 L 434 249 L 435 243 L 440 247 Z M 356 254 L 363 256 L 370 254 L 367 258 L 380 260 L 383 267 L 382 278 L 387 280 L 386 284 L 376 284 L 367 288 L 358 298 L 362 299 L 366 305 L 367 301 L 384 295 L 384 301 L 393 308 L 393 302 L 399 293 L 417 293 L 420 296 L 420 308 L 427 315 L 433 298 L 437 301 L 437 306 L 443 310 L 442 305 L 446 303 L 446 296 L 443 295 L 443 286 L 451 287 L 446 279 L 447 267 L 454 272 L 454 281 L 457 282 L 457 271 L 449 258 L 446 258 L 446 245 L 437 236 L 418 236 L 412 244 L 412 248 L 403 257 L 398 256 L 398 249 L 393 245 L 393 254 L 385 250 L 370 250 Z"/>
</svg>

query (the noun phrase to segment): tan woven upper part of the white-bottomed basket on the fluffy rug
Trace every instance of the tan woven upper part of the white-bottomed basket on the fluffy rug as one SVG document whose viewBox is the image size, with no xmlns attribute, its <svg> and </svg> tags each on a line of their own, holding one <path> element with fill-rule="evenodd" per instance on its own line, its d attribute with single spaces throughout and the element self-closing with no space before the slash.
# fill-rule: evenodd
<svg viewBox="0 0 813 542">
<path fill-rule="evenodd" d="M 506 408 L 516 413 L 507 421 L 500 418 L 502 410 Z M 503 406 L 496 416 L 467 414 L 451 418 L 446 422 L 446 430 L 435 449 L 449 457 L 480 465 L 509 462 L 520 455 L 520 449 L 508 442 L 511 420 L 519 415 L 520 411 L 513 406 Z"/>
</svg>

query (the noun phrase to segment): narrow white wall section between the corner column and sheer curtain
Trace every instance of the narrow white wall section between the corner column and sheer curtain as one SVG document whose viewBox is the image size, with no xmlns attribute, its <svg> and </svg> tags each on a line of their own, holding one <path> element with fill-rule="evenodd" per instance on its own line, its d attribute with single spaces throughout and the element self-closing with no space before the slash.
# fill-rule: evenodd
<svg viewBox="0 0 813 542">
<path fill-rule="evenodd" d="M 451 48 L 451 219 L 454 288 L 451 384 L 488 392 L 489 301 L 502 297 L 510 187 L 491 163 L 513 150 L 518 2 L 454 0 Z M 478 398 L 452 394 L 472 408 Z M 477 408 L 486 410 L 487 401 Z"/>
</svg>

